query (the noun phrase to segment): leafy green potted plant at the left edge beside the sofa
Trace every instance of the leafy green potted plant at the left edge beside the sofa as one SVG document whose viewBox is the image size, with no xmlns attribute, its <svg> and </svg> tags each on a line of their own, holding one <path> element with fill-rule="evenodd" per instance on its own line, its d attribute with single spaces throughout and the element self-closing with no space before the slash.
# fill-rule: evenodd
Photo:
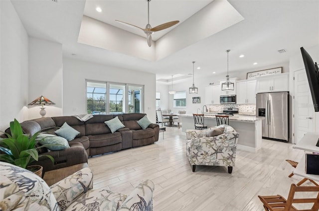
<svg viewBox="0 0 319 211">
<path fill-rule="evenodd" d="M 14 119 L 10 122 L 11 135 L 5 133 L 7 138 L 0 138 L 0 150 L 4 153 L 0 154 L 0 161 L 11 163 L 13 165 L 28 169 L 36 173 L 37 175 L 42 175 L 42 166 L 40 166 L 40 172 L 36 172 L 30 164 L 33 161 L 37 161 L 41 156 L 47 156 L 54 162 L 51 155 L 39 155 L 37 148 L 50 146 L 52 144 L 44 144 L 41 146 L 36 146 L 38 140 L 36 137 L 40 133 L 37 132 L 33 136 L 29 134 L 23 134 L 20 123 Z"/>
</svg>

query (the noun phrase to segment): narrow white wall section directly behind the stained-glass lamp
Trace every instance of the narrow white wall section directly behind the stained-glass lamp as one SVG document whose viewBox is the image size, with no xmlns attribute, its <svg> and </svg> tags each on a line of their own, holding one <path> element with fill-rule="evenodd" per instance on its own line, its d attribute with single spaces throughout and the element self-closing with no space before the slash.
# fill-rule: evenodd
<svg viewBox="0 0 319 211">
<path fill-rule="evenodd" d="M 45 96 L 46 117 L 62 116 L 62 44 L 29 38 L 29 103 Z M 28 119 L 40 118 L 40 106 L 29 106 Z"/>
</svg>

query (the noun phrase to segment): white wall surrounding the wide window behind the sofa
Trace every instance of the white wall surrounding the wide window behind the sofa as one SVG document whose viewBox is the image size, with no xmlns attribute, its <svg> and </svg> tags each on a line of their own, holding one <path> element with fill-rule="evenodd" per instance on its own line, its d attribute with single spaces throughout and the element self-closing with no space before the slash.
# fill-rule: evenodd
<svg viewBox="0 0 319 211">
<path fill-rule="evenodd" d="M 144 113 L 151 122 L 156 121 L 156 75 L 126 70 L 70 58 L 63 58 L 63 115 L 85 114 L 85 80 L 145 85 Z"/>
</svg>

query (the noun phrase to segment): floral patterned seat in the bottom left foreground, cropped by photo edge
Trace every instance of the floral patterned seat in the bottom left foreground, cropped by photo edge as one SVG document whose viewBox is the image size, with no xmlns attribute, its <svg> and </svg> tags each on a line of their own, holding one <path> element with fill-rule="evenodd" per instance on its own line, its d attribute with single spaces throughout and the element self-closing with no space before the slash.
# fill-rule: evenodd
<svg viewBox="0 0 319 211">
<path fill-rule="evenodd" d="M 0 162 L 1 211 L 152 211 L 154 184 L 140 183 L 130 195 L 93 190 L 91 169 L 83 168 L 49 187 L 23 168 Z"/>
</svg>

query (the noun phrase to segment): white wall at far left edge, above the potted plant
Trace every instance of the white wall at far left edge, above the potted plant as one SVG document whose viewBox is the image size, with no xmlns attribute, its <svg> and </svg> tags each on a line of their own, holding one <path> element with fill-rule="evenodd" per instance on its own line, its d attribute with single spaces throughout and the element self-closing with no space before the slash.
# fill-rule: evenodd
<svg viewBox="0 0 319 211">
<path fill-rule="evenodd" d="M 11 1 L 0 1 L 0 131 L 27 118 L 28 36 Z"/>
</svg>

